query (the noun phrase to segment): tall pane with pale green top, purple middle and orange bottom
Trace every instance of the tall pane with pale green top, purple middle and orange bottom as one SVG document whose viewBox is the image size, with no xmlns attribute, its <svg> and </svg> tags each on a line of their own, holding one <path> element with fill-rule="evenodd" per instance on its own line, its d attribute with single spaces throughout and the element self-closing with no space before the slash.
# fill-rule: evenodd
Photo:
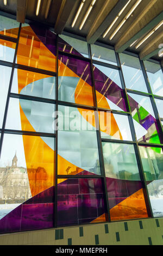
<svg viewBox="0 0 163 256">
<path fill-rule="evenodd" d="M 111 221 L 148 217 L 134 146 L 102 146 Z"/>
</svg>

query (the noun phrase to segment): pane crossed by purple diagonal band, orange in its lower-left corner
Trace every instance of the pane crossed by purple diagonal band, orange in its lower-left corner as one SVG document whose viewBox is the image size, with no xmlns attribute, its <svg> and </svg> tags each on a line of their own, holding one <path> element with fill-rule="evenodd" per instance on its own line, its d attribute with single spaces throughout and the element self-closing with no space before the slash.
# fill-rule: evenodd
<svg viewBox="0 0 163 256">
<path fill-rule="evenodd" d="M 127 111 L 118 70 L 103 68 L 93 67 L 98 107 Z"/>
</svg>

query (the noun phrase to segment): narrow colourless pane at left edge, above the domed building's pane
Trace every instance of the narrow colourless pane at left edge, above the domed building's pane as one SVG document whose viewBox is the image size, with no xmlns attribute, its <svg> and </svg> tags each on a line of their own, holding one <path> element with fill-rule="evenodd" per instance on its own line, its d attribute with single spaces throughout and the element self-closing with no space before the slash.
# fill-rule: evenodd
<svg viewBox="0 0 163 256">
<path fill-rule="evenodd" d="M 1 85 L 0 85 L 0 129 L 3 124 L 4 110 L 5 104 L 7 100 L 8 88 L 10 83 L 11 76 L 11 68 L 7 66 L 0 65 L 0 77 L 1 77 Z"/>
</svg>

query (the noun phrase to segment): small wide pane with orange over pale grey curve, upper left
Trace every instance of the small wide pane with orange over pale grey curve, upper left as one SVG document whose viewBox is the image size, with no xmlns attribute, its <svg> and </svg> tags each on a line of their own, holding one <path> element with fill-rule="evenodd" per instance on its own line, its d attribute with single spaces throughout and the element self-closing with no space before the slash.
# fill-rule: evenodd
<svg viewBox="0 0 163 256">
<path fill-rule="evenodd" d="M 15 69 L 12 93 L 55 99 L 56 78 L 27 70 Z"/>
</svg>

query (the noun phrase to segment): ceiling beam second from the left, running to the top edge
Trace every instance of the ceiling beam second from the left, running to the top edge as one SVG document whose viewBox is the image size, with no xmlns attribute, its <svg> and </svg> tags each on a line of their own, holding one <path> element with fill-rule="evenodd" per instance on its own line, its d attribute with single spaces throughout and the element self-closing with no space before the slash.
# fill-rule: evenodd
<svg viewBox="0 0 163 256">
<path fill-rule="evenodd" d="M 55 22 L 54 32 L 61 34 L 66 25 L 67 19 L 71 14 L 76 0 L 62 0 L 57 21 Z"/>
</svg>

